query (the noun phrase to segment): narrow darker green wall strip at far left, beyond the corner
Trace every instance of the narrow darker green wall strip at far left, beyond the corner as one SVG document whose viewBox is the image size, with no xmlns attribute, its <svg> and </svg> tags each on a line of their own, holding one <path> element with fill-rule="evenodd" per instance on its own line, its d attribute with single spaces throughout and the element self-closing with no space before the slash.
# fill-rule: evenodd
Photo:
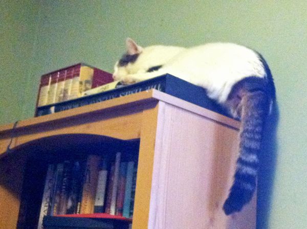
<svg viewBox="0 0 307 229">
<path fill-rule="evenodd" d="M 31 73 L 37 9 L 32 0 L 5 0 L 0 4 L 0 123 L 34 113 L 26 91 L 37 79 Z"/>
</svg>

